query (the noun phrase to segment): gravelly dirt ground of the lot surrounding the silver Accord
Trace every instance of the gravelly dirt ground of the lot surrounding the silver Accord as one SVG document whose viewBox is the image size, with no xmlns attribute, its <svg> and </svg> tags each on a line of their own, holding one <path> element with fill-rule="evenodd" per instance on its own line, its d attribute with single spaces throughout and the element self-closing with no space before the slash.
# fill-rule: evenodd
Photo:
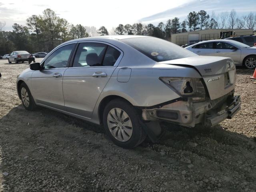
<svg viewBox="0 0 256 192">
<path fill-rule="evenodd" d="M 39 59 L 37 59 L 39 61 Z M 256 84 L 238 68 L 242 110 L 210 130 L 163 124 L 159 144 L 119 148 L 101 126 L 45 108 L 25 110 L 0 60 L 0 192 L 255 192 Z"/>
</svg>

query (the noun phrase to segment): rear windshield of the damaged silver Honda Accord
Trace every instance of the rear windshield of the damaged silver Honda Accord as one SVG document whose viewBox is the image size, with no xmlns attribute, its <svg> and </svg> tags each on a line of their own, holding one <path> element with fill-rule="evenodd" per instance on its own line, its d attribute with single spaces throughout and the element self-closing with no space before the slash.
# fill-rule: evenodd
<svg viewBox="0 0 256 192">
<path fill-rule="evenodd" d="M 153 37 L 138 37 L 120 40 L 156 62 L 197 56 L 176 44 Z"/>
</svg>

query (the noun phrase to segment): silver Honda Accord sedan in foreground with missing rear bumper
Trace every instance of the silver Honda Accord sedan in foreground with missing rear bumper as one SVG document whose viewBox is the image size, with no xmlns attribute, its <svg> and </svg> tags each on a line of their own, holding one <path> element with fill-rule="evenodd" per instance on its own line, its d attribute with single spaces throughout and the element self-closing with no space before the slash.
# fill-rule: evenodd
<svg viewBox="0 0 256 192">
<path fill-rule="evenodd" d="M 160 120 L 214 126 L 240 110 L 230 58 L 198 56 L 148 36 L 71 40 L 17 79 L 24 107 L 43 106 L 104 124 L 115 144 L 156 141 Z"/>
</svg>

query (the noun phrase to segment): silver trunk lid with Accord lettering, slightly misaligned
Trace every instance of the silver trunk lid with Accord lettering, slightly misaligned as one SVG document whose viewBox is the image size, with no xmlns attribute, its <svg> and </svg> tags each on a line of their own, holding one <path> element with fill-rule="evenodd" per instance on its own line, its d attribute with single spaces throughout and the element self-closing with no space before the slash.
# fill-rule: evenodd
<svg viewBox="0 0 256 192">
<path fill-rule="evenodd" d="M 230 58 L 194 56 L 161 63 L 195 68 L 202 76 L 211 100 L 220 98 L 234 89 L 236 68 Z"/>
</svg>

